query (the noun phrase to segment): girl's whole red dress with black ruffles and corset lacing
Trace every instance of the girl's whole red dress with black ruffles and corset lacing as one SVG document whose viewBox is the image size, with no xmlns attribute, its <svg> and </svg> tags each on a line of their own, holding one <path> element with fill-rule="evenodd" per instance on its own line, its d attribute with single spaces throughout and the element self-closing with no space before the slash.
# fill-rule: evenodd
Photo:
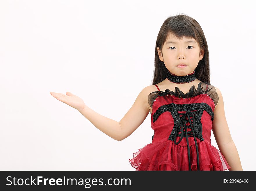
<svg viewBox="0 0 256 191">
<path fill-rule="evenodd" d="M 156 85 L 157 86 L 157 85 Z M 159 88 L 157 87 L 159 90 Z M 152 143 L 129 159 L 136 170 L 227 170 L 221 152 L 211 145 L 211 129 L 218 94 L 214 86 L 200 82 L 184 94 L 175 87 L 152 92 Z"/>
</svg>

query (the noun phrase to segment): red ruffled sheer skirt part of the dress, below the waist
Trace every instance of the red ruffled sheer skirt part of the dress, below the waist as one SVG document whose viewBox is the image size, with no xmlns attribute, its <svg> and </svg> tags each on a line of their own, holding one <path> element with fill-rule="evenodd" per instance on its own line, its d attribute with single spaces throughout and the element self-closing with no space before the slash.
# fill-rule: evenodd
<svg viewBox="0 0 256 191">
<path fill-rule="evenodd" d="M 198 170 L 195 145 L 190 147 L 191 170 Z M 129 159 L 136 170 L 189 170 L 187 146 L 171 140 L 147 144 Z M 220 151 L 205 141 L 198 142 L 200 170 L 230 169 Z"/>
</svg>

